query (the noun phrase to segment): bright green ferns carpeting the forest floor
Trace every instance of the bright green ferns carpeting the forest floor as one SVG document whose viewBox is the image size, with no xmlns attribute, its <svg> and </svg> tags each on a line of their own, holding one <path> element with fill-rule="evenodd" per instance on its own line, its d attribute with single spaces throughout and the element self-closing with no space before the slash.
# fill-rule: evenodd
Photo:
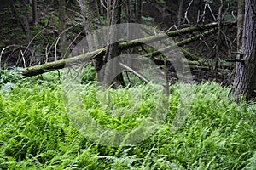
<svg viewBox="0 0 256 170">
<path fill-rule="evenodd" d="M 86 72 L 86 71 L 85 71 Z M 89 71 L 91 74 L 91 72 Z M 54 75 L 55 74 L 55 75 Z M 3 75 L 3 74 L 2 74 Z M 15 75 L 15 74 L 12 74 Z M 51 82 L 57 72 L 14 82 L 0 90 L 0 168 L 2 169 L 255 169 L 256 103 L 236 105 L 227 98 L 230 88 L 207 82 L 193 85 L 195 96 L 183 126 L 170 127 L 179 104 L 181 84 L 170 87 L 166 123 L 154 135 L 134 146 L 112 148 L 82 136 L 69 122 L 61 84 Z M 15 80 L 14 76 L 14 80 Z M 11 78 L 9 78 L 10 80 Z M 86 81 L 85 81 L 86 82 Z M 113 102 L 99 107 L 94 82 L 85 83 L 84 106 L 98 122 L 110 128 L 132 127 L 134 119 L 109 116 L 116 109 L 147 115 L 153 93 L 148 85 L 105 92 Z M 191 85 L 192 86 L 192 85 Z M 128 91 L 141 92 L 135 105 Z M 102 94 L 102 98 L 104 97 Z M 101 95 L 98 95 L 98 97 Z M 103 100 L 102 100 L 103 101 Z M 131 107 L 129 107 L 131 106 Z M 104 112 L 105 111 L 105 112 Z M 112 114 L 112 113 L 110 113 Z M 139 117 L 138 115 L 135 115 Z"/>
</svg>

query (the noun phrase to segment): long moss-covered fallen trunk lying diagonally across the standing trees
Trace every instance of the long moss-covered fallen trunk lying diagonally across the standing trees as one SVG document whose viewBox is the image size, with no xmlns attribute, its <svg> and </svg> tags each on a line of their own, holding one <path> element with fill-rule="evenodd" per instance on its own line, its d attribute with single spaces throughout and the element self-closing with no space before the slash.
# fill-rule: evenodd
<svg viewBox="0 0 256 170">
<path fill-rule="evenodd" d="M 229 25 L 230 24 L 233 25 L 234 23 L 229 23 Z M 179 36 L 179 35 L 186 34 L 186 33 L 192 33 L 195 31 L 203 31 L 203 30 L 212 29 L 217 26 L 218 26 L 218 23 L 213 22 L 213 23 L 210 23 L 210 24 L 207 24 L 204 26 L 191 26 L 191 27 L 183 28 L 183 29 L 177 30 L 177 31 L 169 31 L 164 34 L 160 34 L 160 35 L 156 35 L 156 36 L 144 37 L 144 38 L 135 39 L 135 40 L 132 40 L 129 42 L 120 42 L 119 50 L 134 48 L 134 47 L 137 47 L 137 46 L 140 46 L 143 44 L 147 44 L 149 42 L 156 42 L 156 41 L 159 41 L 159 40 L 163 39 L 164 37 L 166 37 L 166 35 L 169 37 L 175 37 L 175 36 Z M 212 32 L 212 30 L 210 32 Z M 206 35 L 206 33 L 203 33 L 203 34 Z M 191 37 L 188 40 L 183 40 L 182 42 L 177 42 L 176 45 L 183 46 L 189 42 L 193 42 L 193 41 L 199 39 L 200 37 L 201 37 L 201 34 L 199 34 L 195 37 Z M 76 65 L 78 63 L 82 63 L 82 62 L 88 61 L 90 59 L 102 59 L 102 57 L 106 53 L 106 50 L 107 50 L 107 48 L 100 48 L 100 49 L 97 49 L 96 51 L 81 54 L 81 55 L 78 55 L 78 56 L 75 56 L 72 58 L 61 59 L 61 60 L 57 60 L 54 62 L 45 63 L 44 65 L 31 66 L 31 67 L 26 68 L 24 71 L 22 71 L 22 74 L 25 77 L 32 77 L 32 76 L 37 76 L 37 75 L 43 74 L 45 72 L 63 69 L 65 67 L 65 65 Z M 155 54 L 157 54 L 157 53 L 160 53 L 160 52 L 157 51 Z"/>
</svg>

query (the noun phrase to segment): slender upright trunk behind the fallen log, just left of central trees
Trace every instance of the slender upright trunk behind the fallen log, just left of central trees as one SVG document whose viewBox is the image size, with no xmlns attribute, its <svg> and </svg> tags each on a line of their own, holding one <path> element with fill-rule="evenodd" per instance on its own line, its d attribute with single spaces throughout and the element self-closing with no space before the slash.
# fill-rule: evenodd
<svg viewBox="0 0 256 170">
<path fill-rule="evenodd" d="M 63 59 L 67 59 L 70 51 L 67 43 L 66 35 L 66 0 L 59 0 L 59 34 L 60 34 L 60 47 L 61 56 Z"/>
</svg>

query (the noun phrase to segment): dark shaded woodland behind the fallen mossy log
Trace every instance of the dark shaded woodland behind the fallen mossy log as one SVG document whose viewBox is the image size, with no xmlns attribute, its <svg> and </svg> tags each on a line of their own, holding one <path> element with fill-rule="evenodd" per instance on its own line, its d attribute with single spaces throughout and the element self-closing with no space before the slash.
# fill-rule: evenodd
<svg viewBox="0 0 256 170">
<path fill-rule="evenodd" d="M 101 1 L 88 1 L 88 3 L 95 28 L 107 26 L 107 9 L 104 3 L 102 4 Z M 122 3 L 121 22 L 142 23 L 160 31 L 180 30 L 188 26 L 203 26 L 217 22 L 220 8 L 218 1 L 202 0 Z M 221 20 L 236 21 L 237 2 L 223 1 L 222 5 Z M 77 1 L 3 1 L 0 8 L 2 68 L 29 67 L 63 59 L 65 56 L 61 54 L 62 48 L 67 46 L 72 50 L 86 35 L 86 31 L 83 31 L 81 8 Z M 216 35 L 217 32 L 213 32 L 183 48 L 186 49 L 188 57 L 201 57 L 200 64 L 195 62 L 192 65 L 191 62 L 196 80 L 215 79 L 217 82 L 229 85 L 235 75 L 232 71 L 235 65 L 234 63 L 222 65 L 223 62 L 220 61 L 234 58 L 231 52 L 236 51 L 236 26 L 226 26 L 218 36 Z M 181 35 L 174 39 L 179 42 L 191 36 L 193 34 Z M 63 37 L 65 42 L 62 41 Z M 216 64 L 217 60 L 221 64 Z M 231 69 L 224 70 L 224 68 Z M 211 72 L 213 70 L 214 74 Z"/>
</svg>

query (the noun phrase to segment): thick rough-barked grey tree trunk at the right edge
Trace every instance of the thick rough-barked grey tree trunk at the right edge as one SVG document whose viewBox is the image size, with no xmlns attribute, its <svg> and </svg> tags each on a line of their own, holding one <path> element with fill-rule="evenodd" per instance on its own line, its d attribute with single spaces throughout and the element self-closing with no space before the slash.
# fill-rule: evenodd
<svg viewBox="0 0 256 170">
<path fill-rule="evenodd" d="M 236 78 L 230 95 L 235 95 L 236 102 L 245 95 L 246 99 L 256 97 L 256 0 L 245 2 L 245 18 L 242 33 L 241 53 L 244 62 L 236 62 Z"/>
</svg>

